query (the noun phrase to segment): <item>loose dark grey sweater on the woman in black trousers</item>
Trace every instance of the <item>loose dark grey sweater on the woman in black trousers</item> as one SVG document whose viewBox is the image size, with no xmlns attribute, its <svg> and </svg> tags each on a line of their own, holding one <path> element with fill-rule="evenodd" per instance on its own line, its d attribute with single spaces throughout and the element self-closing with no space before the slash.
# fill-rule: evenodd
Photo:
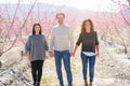
<svg viewBox="0 0 130 86">
<path fill-rule="evenodd" d="M 25 51 L 30 52 L 30 61 L 44 60 L 48 43 L 43 34 L 32 34 L 28 37 Z"/>
</svg>

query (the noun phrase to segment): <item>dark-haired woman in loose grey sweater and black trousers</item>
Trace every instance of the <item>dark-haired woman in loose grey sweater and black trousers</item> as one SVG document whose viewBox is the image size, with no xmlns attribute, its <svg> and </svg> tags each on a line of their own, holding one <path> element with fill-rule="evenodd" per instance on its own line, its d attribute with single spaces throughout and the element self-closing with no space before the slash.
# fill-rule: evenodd
<svg viewBox="0 0 130 86">
<path fill-rule="evenodd" d="M 48 44 L 46 37 L 41 32 L 40 24 L 34 25 L 32 34 L 28 37 L 25 51 L 27 54 L 27 61 L 31 64 L 34 86 L 40 86 L 42 66 L 46 59 L 46 51 L 48 51 Z"/>
</svg>

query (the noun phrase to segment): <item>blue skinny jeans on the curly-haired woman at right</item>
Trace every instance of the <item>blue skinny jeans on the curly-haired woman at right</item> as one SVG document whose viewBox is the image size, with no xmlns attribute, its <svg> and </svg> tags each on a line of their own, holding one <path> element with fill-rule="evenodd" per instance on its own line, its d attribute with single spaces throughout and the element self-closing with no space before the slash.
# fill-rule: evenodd
<svg viewBox="0 0 130 86">
<path fill-rule="evenodd" d="M 90 56 L 87 56 L 83 53 L 81 53 L 81 61 L 82 61 L 83 80 L 87 80 L 87 70 L 88 70 L 88 61 L 89 61 L 89 76 L 90 76 L 90 82 L 93 82 L 95 55 L 90 57 Z"/>
</svg>

